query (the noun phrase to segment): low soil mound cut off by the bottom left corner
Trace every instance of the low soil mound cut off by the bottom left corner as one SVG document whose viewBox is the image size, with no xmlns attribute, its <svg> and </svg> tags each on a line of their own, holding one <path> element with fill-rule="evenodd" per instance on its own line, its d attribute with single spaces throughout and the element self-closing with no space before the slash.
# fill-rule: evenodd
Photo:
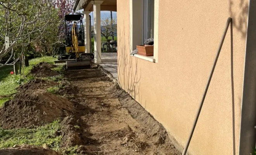
<svg viewBox="0 0 256 155">
<path fill-rule="evenodd" d="M 39 146 L 22 145 L 16 148 L 8 148 L 0 150 L 0 155 L 61 155 L 49 148 Z"/>
</svg>

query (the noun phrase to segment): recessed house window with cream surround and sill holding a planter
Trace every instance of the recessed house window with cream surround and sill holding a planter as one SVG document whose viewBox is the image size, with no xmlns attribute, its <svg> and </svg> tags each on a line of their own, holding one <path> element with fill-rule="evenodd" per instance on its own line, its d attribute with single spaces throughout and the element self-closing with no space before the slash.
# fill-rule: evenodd
<svg viewBox="0 0 256 155">
<path fill-rule="evenodd" d="M 130 55 L 148 60 L 150 62 L 158 62 L 158 14 L 159 0 L 130 0 Z M 143 45 L 145 40 L 153 38 L 153 54 L 152 48 L 147 47 L 147 52 L 136 48 Z M 135 54 L 132 54 L 135 53 Z"/>
</svg>

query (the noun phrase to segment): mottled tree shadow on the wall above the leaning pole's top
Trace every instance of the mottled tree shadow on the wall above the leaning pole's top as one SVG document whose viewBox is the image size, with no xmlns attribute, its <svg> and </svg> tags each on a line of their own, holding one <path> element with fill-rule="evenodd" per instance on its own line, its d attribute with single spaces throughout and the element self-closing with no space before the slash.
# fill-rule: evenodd
<svg viewBox="0 0 256 155">
<path fill-rule="evenodd" d="M 248 0 L 240 0 L 239 4 L 234 1 L 235 0 L 229 0 L 229 13 L 230 17 L 233 19 L 233 27 L 242 34 L 242 38 L 246 38 Z"/>
</svg>

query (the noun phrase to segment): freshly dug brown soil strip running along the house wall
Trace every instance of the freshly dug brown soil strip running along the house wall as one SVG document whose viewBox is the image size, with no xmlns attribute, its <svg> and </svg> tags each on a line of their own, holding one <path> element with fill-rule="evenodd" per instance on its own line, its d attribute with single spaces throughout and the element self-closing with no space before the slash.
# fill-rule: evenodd
<svg viewBox="0 0 256 155">
<path fill-rule="evenodd" d="M 76 131 L 78 136 L 74 136 L 78 141 L 73 142 L 73 145 L 80 145 L 77 153 L 181 154 L 163 126 L 99 69 L 71 70 L 66 72 L 66 77 L 79 90 L 76 102 L 83 107 L 77 109 L 73 121 L 80 126 Z"/>
</svg>

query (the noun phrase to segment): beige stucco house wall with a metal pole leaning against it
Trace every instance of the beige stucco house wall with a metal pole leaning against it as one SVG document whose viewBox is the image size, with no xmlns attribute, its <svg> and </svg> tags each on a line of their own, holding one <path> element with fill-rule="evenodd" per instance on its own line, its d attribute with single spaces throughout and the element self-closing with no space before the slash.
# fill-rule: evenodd
<svg viewBox="0 0 256 155">
<path fill-rule="evenodd" d="M 233 67 L 229 29 L 189 152 L 237 155 L 248 0 L 159 0 L 157 63 L 129 55 L 129 4 L 117 0 L 119 84 L 183 146 L 225 23 L 233 18 Z"/>
</svg>

